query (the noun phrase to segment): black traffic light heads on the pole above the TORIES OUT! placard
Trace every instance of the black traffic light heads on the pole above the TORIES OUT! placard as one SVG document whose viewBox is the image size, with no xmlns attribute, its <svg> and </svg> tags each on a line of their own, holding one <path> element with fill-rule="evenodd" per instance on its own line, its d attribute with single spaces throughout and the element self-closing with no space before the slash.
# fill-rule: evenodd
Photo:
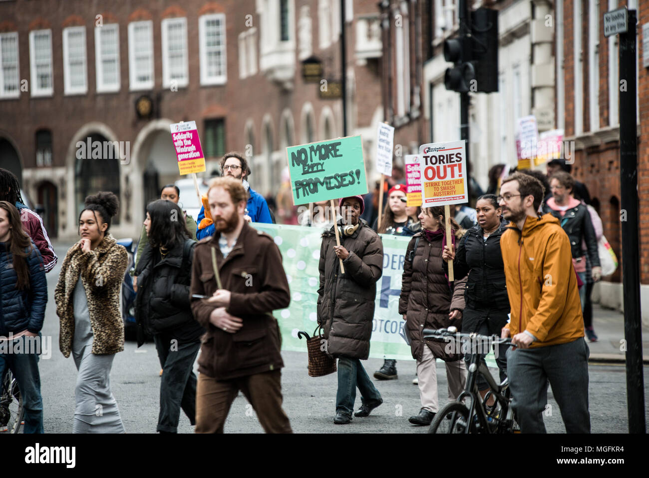
<svg viewBox="0 0 649 478">
<path fill-rule="evenodd" d="M 444 42 L 444 84 L 454 92 L 498 91 L 498 10 L 471 12 L 471 33 Z"/>
</svg>

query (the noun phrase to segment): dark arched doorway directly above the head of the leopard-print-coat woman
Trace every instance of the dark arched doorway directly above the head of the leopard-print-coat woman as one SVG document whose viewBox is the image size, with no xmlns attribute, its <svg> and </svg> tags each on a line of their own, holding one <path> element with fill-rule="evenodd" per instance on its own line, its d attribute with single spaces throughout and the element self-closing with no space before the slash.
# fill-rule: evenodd
<svg viewBox="0 0 649 478">
<path fill-rule="evenodd" d="M 112 142 L 108 142 L 105 136 L 99 133 L 89 135 L 91 151 L 85 151 L 86 154 L 77 154 L 75 162 L 75 205 L 77 216 L 84 208 L 86 196 L 97 194 L 99 191 L 114 192 L 117 197 L 120 196 L 119 186 L 119 151 L 114 147 Z M 88 144 L 86 142 L 86 144 Z M 86 147 L 84 144 L 82 147 Z M 113 151 L 109 150 L 112 148 Z M 118 212 L 112 220 L 114 225 L 119 225 Z M 75 217 L 76 220 L 76 217 Z"/>
</svg>

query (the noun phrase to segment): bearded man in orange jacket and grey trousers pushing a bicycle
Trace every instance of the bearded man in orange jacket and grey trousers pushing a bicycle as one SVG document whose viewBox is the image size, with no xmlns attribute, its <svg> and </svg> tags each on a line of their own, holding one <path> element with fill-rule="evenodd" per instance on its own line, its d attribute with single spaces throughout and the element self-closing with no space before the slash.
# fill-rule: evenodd
<svg viewBox="0 0 649 478">
<path fill-rule="evenodd" d="M 543 185 L 515 173 L 498 203 L 511 221 L 500 238 L 512 337 L 507 375 L 522 433 L 545 433 L 548 379 L 567 433 L 590 433 L 588 356 L 570 240 L 551 214 L 539 216 Z"/>
</svg>

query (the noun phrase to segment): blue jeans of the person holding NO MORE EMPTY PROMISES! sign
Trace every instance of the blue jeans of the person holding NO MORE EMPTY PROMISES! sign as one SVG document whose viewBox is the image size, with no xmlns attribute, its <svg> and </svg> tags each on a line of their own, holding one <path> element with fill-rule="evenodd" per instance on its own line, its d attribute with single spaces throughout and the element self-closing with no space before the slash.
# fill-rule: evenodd
<svg viewBox="0 0 649 478">
<path fill-rule="evenodd" d="M 338 391 L 336 393 L 336 412 L 349 416 L 354 412 L 356 387 L 361 392 L 363 405 L 371 404 L 381 399 L 376 387 L 367 376 L 363 364 L 358 359 L 339 357 L 338 359 Z"/>
</svg>

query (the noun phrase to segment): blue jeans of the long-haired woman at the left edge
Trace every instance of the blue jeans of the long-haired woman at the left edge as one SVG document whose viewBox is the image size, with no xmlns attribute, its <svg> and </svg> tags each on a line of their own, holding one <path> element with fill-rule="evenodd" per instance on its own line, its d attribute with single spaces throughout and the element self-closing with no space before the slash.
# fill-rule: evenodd
<svg viewBox="0 0 649 478">
<path fill-rule="evenodd" d="M 40 333 L 38 336 L 40 337 Z M 25 409 L 23 433 L 44 433 L 38 354 L 34 350 L 31 351 L 34 353 L 29 353 L 29 348 L 33 348 L 29 346 L 29 342 L 34 344 L 35 339 L 32 338 L 27 342 L 26 338 L 23 335 L 0 346 L 2 348 L 12 347 L 12 352 L 18 351 L 18 347 L 20 347 L 20 353 L 0 353 L 0 377 L 4 377 L 6 368 L 9 368 L 18 381 Z"/>
</svg>

